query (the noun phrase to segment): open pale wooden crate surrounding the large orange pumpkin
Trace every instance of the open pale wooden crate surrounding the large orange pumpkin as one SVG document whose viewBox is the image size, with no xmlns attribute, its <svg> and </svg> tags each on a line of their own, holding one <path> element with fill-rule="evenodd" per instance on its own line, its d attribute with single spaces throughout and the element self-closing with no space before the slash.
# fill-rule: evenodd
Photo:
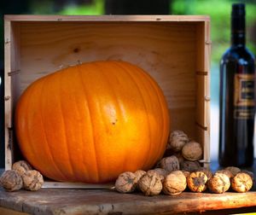
<svg viewBox="0 0 256 215">
<path fill-rule="evenodd" d="M 61 67 L 124 60 L 160 84 L 172 130 L 204 147 L 210 161 L 210 20 L 201 15 L 6 15 L 5 165 L 19 151 L 13 115 L 20 94 L 35 79 Z M 36 129 L 36 128 L 35 128 Z"/>
</svg>

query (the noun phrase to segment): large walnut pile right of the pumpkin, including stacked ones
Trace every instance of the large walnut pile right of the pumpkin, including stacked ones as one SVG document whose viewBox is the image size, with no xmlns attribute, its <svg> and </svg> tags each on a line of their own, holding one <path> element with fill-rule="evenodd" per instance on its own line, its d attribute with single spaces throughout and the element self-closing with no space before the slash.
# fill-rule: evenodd
<svg viewBox="0 0 256 215">
<path fill-rule="evenodd" d="M 253 172 L 230 166 L 213 173 L 201 167 L 201 144 L 190 141 L 183 131 L 173 131 L 167 149 L 174 153 L 164 157 L 153 170 L 126 171 L 119 175 L 115 189 L 120 193 L 141 191 L 144 195 L 179 195 L 185 189 L 221 194 L 229 189 L 244 193 L 253 187 Z"/>
</svg>

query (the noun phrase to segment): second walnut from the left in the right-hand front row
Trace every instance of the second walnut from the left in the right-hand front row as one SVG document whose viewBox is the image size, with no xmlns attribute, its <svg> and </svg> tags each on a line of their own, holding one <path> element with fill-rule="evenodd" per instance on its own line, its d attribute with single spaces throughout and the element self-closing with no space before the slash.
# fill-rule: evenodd
<svg viewBox="0 0 256 215">
<path fill-rule="evenodd" d="M 138 181 L 138 187 L 140 190 L 142 190 L 144 195 L 159 195 L 163 185 L 158 173 L 154 171 L 148 171 Z"/>
</svg>

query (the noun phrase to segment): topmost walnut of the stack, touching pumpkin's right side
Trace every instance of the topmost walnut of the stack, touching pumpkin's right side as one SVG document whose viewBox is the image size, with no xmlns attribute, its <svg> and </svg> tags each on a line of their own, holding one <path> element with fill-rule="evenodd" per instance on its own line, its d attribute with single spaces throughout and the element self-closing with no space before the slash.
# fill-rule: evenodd
<svg viewBox="0 0 256 215">
<path fill-rule="evenodd" d="M 172 131 L 167 149 L 179 152 L 187 142 L 189 142 L 189 137 L 183 131 Z"/>
</svg>

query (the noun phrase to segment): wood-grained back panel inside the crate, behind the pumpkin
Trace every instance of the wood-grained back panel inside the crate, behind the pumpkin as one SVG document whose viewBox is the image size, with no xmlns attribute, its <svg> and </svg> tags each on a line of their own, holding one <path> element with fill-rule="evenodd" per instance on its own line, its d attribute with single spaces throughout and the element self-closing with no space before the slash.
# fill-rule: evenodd
<svg viewBox="0 0 256 215">
<path fill-rule="evenodd" d="M 195 122 L 195 36 L 191 22 L 20 22 L 19 91 L 61 67 L 129 61 L 160 84 L 172 129 L 194 136 L 193 123 L 185 125 L 180 119 Z"/>
</svg>

